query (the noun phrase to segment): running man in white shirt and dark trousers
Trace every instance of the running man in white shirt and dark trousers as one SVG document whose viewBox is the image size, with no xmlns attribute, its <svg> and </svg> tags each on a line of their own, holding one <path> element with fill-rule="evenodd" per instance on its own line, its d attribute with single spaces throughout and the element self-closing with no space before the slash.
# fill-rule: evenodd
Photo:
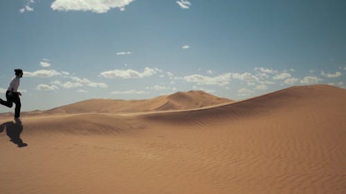
<svg viewBox="0 0 346 194">
<path fill-rule="evenodd" d="M 6 99 L 7 101 L 3 101 L 0 98 L 0 104 L 3 106 L 7 106 L 8 108 L 12 108 L 13 103 L 16 104 L 15 108 L 15 119 L 19 119 L 21 112 L 21 93 L 18 92 L 18 87 L 20 84 L 20 79 L 23 77 L 23 70 L 15 69 L 15 77 L 10 82 L 10 86 L 8 86 L 8 90 L 6 91 Z"/>
</svg>

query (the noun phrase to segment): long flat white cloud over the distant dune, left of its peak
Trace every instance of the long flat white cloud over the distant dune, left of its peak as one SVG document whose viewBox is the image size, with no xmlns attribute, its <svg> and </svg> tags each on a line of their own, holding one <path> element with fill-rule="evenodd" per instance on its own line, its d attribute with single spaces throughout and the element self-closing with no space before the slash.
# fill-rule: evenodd
<svg viewBox="0 0 346 194">
<path fill-rule="evenodd" d="M 136 79 L 136 78 L 143 78 L 143 77 L 150 77 L 152 75 L 155 75 L 159 69 L 155 68 L 145 68 L 143 72 L 138 72 L 136 70 L 109 70 L 105 72 L 101 72 L 100 75 L 102 75 L 105 78 L 108 79 L 114 79 L 114 78 L 123 78 L 123 79 Z"/>
</svg>

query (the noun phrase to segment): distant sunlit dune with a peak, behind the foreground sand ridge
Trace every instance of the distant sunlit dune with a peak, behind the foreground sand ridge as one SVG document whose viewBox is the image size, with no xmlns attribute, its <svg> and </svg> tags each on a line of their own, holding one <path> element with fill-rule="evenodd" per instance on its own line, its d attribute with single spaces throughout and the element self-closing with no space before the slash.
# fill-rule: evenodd
<svg viewBox="0 0 346 194">
<path fill-rule="evenodd" d="M 45 113 L 138 113 L 201 108 L 231 101 L 233 100 L 216 97 L 203 91 L 191 90 L 143 100 L 90 99 L 53 108 Z"/>
</svg>

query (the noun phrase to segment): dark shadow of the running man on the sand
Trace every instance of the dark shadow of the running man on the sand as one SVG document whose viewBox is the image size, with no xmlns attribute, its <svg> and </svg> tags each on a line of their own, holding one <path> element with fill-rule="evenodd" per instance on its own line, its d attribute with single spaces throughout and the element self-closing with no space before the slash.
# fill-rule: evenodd
<svg viewBox="0 0 346 194">
<path fill-rule="evenodd" d="M 28 146 L 20 138 L 20 134 L 23 131 L 23 125 L 20 119 L 15 119 L 15 122 L 6 122 L 0 125 L 0 133 L 6 128 L 6 134 L 10 137 L 10 141 L 17 144 L 19 148 Z"/>
</svg>

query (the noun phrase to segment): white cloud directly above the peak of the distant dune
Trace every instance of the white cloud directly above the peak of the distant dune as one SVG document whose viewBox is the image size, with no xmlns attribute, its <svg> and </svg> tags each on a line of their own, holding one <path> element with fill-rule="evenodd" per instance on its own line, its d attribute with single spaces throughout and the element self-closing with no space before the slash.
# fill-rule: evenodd
<svg viewBox="0 0 346 194">
<path fill-rule="evenodd" d="M 216 77 L 208 77 L 203 75 L 189 75 L 183 77 L 184 81 L 196 83 L 198 85 L 218 85 L 218 86 L 226 86 L 230 84 L 230 72 L 224 73 L 222 75 L 218 75 Z"/>
</svg>

